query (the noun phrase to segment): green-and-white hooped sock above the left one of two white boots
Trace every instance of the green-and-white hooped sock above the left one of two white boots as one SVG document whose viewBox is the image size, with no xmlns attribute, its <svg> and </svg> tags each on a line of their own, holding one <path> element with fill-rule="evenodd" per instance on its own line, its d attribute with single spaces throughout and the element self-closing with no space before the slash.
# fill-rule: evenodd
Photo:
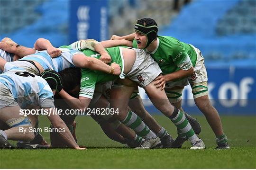
<svg viewBox="0 0 256 170">
<path fill-rule="evenodd" d="M 125 119 L 122 121 L 124 125 L 127 125 L 129 128 L 135 131 L 135 133 L 143 137 L 144 139 L 155 139 L 156 135 L 152 132 L 147 125 L 132 111 L 128 110 L 128 114 Z"/>
</svg>

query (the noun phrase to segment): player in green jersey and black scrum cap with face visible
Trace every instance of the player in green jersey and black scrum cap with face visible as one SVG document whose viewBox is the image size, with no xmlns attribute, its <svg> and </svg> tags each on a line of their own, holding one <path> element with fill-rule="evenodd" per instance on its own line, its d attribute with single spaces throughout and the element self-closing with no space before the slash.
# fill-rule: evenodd
<svg viewBox="0 0 256 170">
<path fill-rule="evenodd" d="M 135 33 L 123 37 L 112 36 L 111 39 L 126 39 L 132 42 L 133 47 L 145 49 L 150 53 L 163 71 L 163 76 L 157 78 L 156 84 L 166 82 L 166 94 L 173 98 L 170 102 L 180 109 L 182 91 L 189 82 L 195 104 L 206 117 L 216 136 L 216 149 L 229 149 L 218 111 L 209 100 L 208 78 L 201 51 L 174 37 L 158 36 L 157 31 L 155 20 L 142 18 L 136 22 Z M 179 133 L 174 146 L 181 147 L 186 139 L 186 135 Z"/>
</svg>

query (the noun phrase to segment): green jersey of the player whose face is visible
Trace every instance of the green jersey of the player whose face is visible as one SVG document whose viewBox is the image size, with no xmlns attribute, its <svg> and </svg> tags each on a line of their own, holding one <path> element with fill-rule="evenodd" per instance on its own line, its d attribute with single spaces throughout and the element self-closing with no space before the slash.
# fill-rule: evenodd
<svg viewBox="0 0 256 170">
<path fill-rule="evenodd" d="M 133 41 L 133 47 L 137 48 L 136 40 Z M 188 70 L 195 66 L 197 59 L 197 54 L 191 45 L 171 36 L 158 36 L 157 47 L 150 54 L 160 66 L 163 74 L 180 69 Z"/>
</svg>

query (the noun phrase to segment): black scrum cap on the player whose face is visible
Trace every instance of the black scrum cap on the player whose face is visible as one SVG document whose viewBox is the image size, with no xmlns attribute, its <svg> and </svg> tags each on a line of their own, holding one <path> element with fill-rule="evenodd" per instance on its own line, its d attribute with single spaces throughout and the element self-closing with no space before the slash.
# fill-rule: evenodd
<svg viewBox="0 0 256 170">
<path fill-rule="evenodd" d="M 136 31 L 146 35 L 146 47 L 148 47 L 157 38 L 158 27 L 155 20 L 152 18 L 138 19 L 134 28 Z"/>
</svg>

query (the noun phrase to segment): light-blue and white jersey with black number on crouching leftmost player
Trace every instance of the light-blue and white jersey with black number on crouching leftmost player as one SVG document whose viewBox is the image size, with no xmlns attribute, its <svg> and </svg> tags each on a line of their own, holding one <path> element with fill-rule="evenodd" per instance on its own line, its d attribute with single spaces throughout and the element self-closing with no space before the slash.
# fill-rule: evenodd
<svg viewBox="0 0 256 170">
<path fill-rule="evenodd" d="M 0 74 L 0 82 L 7 86 L 21 108 L 27 106 L 55 107 L 54 94 L 45 79 L 14 67 Z"/>
</svg>

